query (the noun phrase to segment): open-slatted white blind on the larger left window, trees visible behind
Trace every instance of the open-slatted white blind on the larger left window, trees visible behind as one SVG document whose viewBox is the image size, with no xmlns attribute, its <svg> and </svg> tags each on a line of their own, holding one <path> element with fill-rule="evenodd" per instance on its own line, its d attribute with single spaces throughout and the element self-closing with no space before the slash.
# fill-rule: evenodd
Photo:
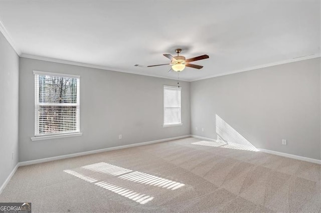
<svg viewBox="0 0 321 213">
<path fill-rule="evenodd" d="M 35 136 L 79 132 L 79 76 L 34 74 Z"/>
</svg>

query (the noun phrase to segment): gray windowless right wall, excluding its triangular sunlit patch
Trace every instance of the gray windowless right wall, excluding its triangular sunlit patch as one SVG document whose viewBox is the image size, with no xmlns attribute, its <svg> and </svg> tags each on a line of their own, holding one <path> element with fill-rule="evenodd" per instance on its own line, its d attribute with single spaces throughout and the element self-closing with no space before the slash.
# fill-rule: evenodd
<svg viewBox="0 0 321 213">
<path fill-rule="evenodd" d="M 216 139 L 216 114 L 255 147 L 321 159 L 320 58 L 192 82 L 191 133 Z"/>
</svg>

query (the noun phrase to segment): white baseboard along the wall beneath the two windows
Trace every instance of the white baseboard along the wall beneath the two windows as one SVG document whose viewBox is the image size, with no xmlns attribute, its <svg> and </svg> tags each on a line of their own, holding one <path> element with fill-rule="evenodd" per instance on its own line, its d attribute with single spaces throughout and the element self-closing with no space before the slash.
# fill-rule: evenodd
<svg viewBox="0 0 321 213">
<path fill-rule="evenodd" d="M 165 141 L 169 141 L 169 140 L 181 139 L 181 138 L 186 138 L 186 137 L 190 137 L 190 136 L 191 135 L 187 134 L 187 135 L 182 135 L 182 136 L 177 136 L 177 137 L 169 137 L 169 138 L 165 138 L 165 139 L 151 140 L 151 141 L 133 143 L 133 144 L 128 144 L 128 145 L 120 145 L 120 146 L 96 149 L 96 150 L 91 150 L 91 151 L 84 151 L 84 152 L 65 154 L 65 155 L 54 156 L 54 157 L 47 157 L 47 158 L 42 158 L 42 159 L 28 160 L 28 161 L 19 162 L 19 166 L 31 165 L 31 164 L 41 163 L 41 162 L 48 162 L 48 161 L 52 161 L 52 160 L 65 159 L 65 158 L 82 156 L 82 155 L 87 155 L 87 154 L 94 154 L 94 153 L 111 151 L 111 150 L 122 149 L 122 148 L 129 148 L 129 147 L 140 146 L 140 145 L 147 145 L 147 144 L 157 143 L 157 142 L 165 142 Z"/>
</svg>

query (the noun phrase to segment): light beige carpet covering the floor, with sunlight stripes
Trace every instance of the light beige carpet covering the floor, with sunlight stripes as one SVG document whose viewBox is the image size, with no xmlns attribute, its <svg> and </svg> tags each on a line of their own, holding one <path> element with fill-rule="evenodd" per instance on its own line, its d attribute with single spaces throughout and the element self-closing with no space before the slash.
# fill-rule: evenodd
<svg viewBox="0 0 321 213">
<path fill-rule="evenodd" d="M 321 165 L 200 139 L 19 167 L 1 202 L 33 212 L 321 212 Z"/>
</svg>

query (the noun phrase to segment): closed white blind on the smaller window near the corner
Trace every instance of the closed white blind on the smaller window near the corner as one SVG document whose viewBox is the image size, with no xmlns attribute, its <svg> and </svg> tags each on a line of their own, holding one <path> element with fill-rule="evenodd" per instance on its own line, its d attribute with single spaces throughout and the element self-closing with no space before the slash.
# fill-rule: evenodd
<svg viewBox="0 0 321 213">
<path fill-rule="evenodd" d="M 164 86 L 164 125 L 181 124 L 181 88 Z"/>
</svg>

